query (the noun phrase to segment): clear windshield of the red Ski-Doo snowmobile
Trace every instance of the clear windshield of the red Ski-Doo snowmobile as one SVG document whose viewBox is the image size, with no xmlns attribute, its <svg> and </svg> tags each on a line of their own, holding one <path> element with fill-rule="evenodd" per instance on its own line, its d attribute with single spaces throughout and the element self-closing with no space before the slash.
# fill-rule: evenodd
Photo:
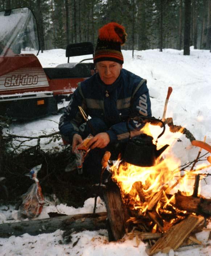
<svg viewBox="0 0 211 256">
<path fill-rule="evenodd" d="M 0 12 L 0 55 L 33 53 L 37 55 L 37 23 L 28 8 Z"/>
</svg>

